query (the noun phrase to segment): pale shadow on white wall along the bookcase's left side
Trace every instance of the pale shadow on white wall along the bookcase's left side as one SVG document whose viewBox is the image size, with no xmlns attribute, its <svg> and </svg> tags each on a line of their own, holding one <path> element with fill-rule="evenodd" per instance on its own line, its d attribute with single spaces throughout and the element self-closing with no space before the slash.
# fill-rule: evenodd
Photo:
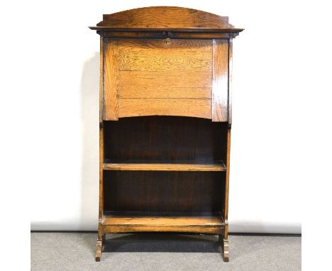
<svg viewBox="0 0 332 271">
<path fill-rule="evenodd" d="M 99 204 L 99 52 L 84 63 L 81 103 L 82 182 L 79 229 L 96 231 Z"/>
</svg>

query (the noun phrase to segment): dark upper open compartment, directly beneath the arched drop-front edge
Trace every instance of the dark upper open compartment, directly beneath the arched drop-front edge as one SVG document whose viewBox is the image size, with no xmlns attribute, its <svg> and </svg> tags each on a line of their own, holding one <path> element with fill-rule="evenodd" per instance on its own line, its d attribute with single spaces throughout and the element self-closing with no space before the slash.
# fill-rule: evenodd
<svg viewBox="0 0 332 271">
<path fill-rule="evenodd" d="M 104 121 L 104 159 L 214 164 L 226 161 L 227 129 L 227 123 L 179 116 Z"/>
</svg>

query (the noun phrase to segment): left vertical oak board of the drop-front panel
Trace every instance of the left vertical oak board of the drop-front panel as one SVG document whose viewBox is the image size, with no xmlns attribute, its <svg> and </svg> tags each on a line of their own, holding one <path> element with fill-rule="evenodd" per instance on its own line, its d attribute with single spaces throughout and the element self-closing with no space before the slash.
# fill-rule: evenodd
<svg viewBox="0 0 332 271">
<path fill-rule="evenodd" d="M 104 112 L 105 120 L 118 119 L 118 41 L 104 39 Z"/>
</svg>

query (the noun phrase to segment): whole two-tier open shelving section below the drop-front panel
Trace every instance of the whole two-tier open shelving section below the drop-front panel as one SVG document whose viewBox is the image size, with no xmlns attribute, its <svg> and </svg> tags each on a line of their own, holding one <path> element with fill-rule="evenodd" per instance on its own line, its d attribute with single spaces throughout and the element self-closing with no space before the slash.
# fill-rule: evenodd
<svg viewBox="0 0 332 271">
<path fill-rule="evenodd" d="M 103 127 L 104 232 L 222 231 L 228 123 L 139 116 Z"/>
</svg>

